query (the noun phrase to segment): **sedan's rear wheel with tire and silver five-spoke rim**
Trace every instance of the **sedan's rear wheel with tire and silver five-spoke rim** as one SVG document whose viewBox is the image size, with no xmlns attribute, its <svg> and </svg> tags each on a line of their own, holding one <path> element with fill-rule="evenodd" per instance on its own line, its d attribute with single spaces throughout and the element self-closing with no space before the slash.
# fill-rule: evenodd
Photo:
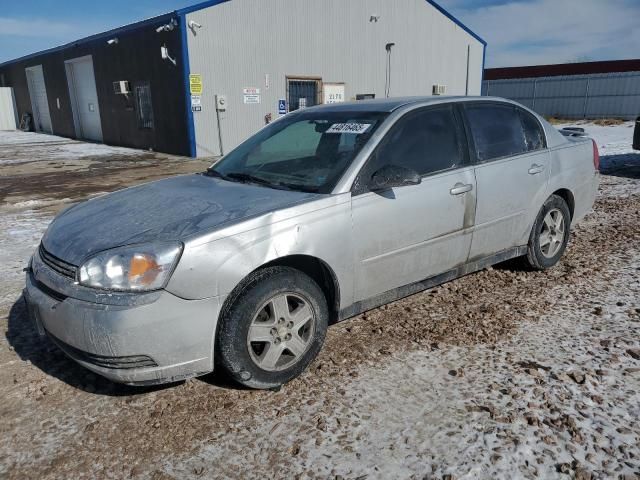
<svg viewBox="0 0 640 480">
<path fill-rule="evenodd" d="M 567 202 L 551 195 L 542 205 L 529 235 L 527 263 L 535 270 L 553 267 L 567 248 L 571 213 Z"/>
</svg>

